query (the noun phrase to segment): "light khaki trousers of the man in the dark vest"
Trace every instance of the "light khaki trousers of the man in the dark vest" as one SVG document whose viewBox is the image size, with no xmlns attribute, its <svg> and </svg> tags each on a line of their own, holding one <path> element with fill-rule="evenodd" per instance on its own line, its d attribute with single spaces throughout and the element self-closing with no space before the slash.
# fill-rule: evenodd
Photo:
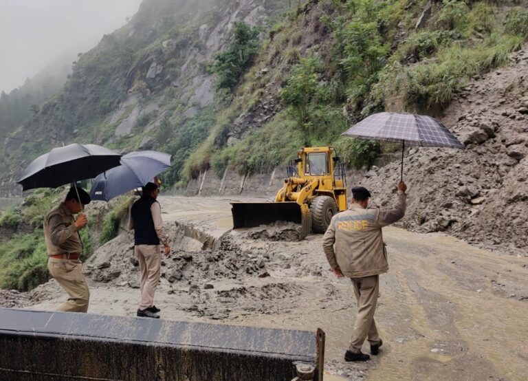
<svg viewBox="0 0 528 381">
<path fill-rule="evenodd" d="M 138 245 L 134 252 L 140 263 L 140 309 L 144 310 L 154 305 L 154 292 L 162 274 L 162 252 L 158 245 Z"/>
</svg>

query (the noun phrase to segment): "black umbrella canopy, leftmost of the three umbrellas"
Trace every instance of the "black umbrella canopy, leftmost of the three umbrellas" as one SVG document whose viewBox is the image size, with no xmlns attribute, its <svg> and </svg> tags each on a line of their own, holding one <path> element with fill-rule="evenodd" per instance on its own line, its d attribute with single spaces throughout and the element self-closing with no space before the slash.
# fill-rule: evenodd
<svg viewBox="0 0 528 381">
<path fill-rule="evenodd" d="M 23 190 L 57 188 L 91 179 L 120 164 L 121 155 L 96 144 L 69 144 L 33 160 L 17 183 Z"/>
</svg>

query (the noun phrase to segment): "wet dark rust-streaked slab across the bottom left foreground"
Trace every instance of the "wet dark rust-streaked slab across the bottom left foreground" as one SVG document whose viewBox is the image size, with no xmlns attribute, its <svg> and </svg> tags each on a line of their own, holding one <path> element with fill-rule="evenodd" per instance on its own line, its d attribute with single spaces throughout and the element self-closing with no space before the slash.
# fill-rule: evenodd
<svg viewBox="0 0 528 381">
<path fill-rule="evenodd" d="M 0 308 L 0 380 L 322 380 L 324 342 L 320 330 Z"/>
</svg>

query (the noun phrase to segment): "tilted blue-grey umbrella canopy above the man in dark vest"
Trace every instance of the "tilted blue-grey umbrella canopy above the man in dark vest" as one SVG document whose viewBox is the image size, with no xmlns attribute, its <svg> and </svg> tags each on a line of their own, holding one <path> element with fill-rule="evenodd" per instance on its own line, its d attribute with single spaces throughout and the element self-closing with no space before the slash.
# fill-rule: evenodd
<svg viewBox="0 0 528 381">
<path fill-rule="evenodd" d="M 91 199 L 109 201 L 129 190 L 151 182 L 170 167 L 170 155 L 157 151 L 131 152 L 121 157 L 121 165 L 101 173 L 91 186 Z"/>
</svg>

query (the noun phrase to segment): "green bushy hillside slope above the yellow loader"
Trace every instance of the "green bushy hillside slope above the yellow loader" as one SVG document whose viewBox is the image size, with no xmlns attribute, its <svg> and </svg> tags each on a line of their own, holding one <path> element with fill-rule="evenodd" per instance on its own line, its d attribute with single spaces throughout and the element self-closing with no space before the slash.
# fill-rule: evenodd
<svg viewBox="0 0 528 381">
<path fill-rule="evenodd" d="M 391 99 L 402 100 L 401 111 L 439 113 L 468 79 L 505 65 L 528 38 L 528 11 L 507 2 L 432 3 L 430 17 L 416 28 L 424 6 L 426 1 L 325 0 L 287 12 L 206 141 L 190 155 L 184 178 L 209 166 L 219 175 L 227 166 L 270 171 L 303 144 L 332 144 L 349 166 L 369 166 L 380 145 L 340 138 L 351 124 L 384 111 Z M 270 94 L 274 83 L 279 86 Z M 227 146 L 236 116 L 264 96 L 282 100 L 285 112 Z"/>
</svg>

